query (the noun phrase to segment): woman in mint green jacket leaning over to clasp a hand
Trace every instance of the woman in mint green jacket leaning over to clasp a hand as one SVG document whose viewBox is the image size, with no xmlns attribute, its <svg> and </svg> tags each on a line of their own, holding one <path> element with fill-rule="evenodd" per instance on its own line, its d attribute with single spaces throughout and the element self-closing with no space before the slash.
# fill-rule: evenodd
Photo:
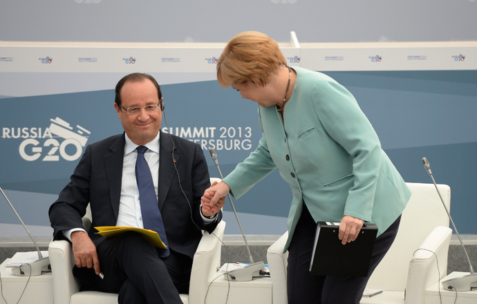
<svg viewBox="0 0 477 304">
<path fill-rule="evenodd" d="M 373 126 L 346 88 L 330 77 L 290 68 L 278 44 L 260 32 L 232 38 L 218 59 L 217 78 L 259 104 L 259 146 L 203 205 L 241 197 L 275 168 L 293 193 L 288 215 L 288 303 L 359 303 L 369 276 L 393 243 L 411 191 L 382 151 Z M 316 223 L 340 222 L 350 243 L 364 222 L 378 227 L 367 277 L 308 272 Z"/>
</svg>

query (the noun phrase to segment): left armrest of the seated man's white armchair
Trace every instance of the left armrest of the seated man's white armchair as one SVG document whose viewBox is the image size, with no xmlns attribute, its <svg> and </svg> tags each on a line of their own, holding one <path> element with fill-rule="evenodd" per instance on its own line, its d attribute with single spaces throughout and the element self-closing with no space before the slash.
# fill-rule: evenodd
<svg viewBox="0 0 477 304">
<path fill-rule="evenodd" d="M 73 277 L 73 249 L 67 240 L 53 240 L 48 247 L 53 272 L 53 301 L 70 303 L 72 294 L 79 291 L 79 283 Z"/>
</svg>

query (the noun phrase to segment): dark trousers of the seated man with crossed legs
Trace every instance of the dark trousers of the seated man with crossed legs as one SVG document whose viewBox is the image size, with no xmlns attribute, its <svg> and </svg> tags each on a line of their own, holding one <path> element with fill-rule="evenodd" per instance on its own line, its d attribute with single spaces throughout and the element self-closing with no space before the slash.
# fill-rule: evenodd
<svg viewBox="0 0 477 304">
<path fill-rule="evenodd" d="M 97 254 L 103 280 L 93 269 L 73 269 L 83 290 L 118 293 L 120 304 L 182 304 L 179 293 L 189 292 L 191 258 L 173 250 L 159 258 L 156 248 L 135 232 L 107 238 Z"/>
</svg>

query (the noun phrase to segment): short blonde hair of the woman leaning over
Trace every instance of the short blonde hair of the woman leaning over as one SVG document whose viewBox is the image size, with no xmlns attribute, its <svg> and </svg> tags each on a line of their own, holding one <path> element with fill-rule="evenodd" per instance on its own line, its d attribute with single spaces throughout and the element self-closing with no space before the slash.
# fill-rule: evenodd
<svg viewBox="0 0 477 304">
<path fill-rule="evenodd" d="M 261 32 L 241 32 L 227 43 L 217 61 L 217 80 L 223 88 L 251 81 L 265 86 L 286 59 L 272 38 Z"/>
</svg>

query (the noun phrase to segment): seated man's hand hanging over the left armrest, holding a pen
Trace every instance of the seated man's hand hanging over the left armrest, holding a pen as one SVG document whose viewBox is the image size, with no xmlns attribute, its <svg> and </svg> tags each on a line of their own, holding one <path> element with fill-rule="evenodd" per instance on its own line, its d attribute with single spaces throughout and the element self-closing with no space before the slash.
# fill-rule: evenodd
<svg viewBox="0 0 477 304">
<path fill-rule="evenodd" d="M 71 234 L 73 254 L 77 267 L 95 267 L 96 274 L 100 274 L 100 260 L 97 258 L 96 246 L 84 231 L 74 231 Z"/>
</svg>

